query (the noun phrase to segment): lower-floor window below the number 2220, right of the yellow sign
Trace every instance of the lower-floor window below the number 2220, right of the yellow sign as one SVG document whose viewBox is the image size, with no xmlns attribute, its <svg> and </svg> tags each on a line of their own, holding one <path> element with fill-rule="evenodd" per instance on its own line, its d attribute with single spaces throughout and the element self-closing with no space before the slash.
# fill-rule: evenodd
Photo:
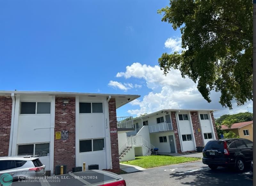
<svg viewBox="0 0 256 186">
<path fill-rule="evenodd" d="M 104 138 L 79 141 L 79 152 L 104 151 Z"/>
</svg>

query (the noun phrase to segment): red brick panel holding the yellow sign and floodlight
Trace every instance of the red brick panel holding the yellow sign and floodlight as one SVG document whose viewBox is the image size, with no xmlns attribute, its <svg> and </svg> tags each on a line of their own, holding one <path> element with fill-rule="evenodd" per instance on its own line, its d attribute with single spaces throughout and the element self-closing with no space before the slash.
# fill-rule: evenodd
<svg viewBox="0 0 256 186">
<path fill-rule="evenodd" d="M 65 106 L 63 99 L 69 99 Z M 76 160 L 76 98 L 55 98 L 55 129 L 54 129 L 54 173 L 56 165 L 67 165 L 67 171 L 72 171 Z M 56 139 L 56 132 L 68 130 L 68 139 Z"/>
</svg>

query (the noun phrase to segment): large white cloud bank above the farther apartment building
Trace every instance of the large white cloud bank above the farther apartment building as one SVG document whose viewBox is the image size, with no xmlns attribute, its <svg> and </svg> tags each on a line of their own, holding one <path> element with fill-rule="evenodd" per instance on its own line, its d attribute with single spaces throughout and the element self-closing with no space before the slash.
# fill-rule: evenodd
<svg viewBox="0 0 256 186">
<path fill-rule="evenodd" d="M 208 103 L 196 88 L 196 83 L 191 79 L 181 77 L 179 70 L 171 70 L 167 76 L 163 75 L 159 66 L 141 65 L 133 63 L 126 66 L 125 72 L 119 72 L 116 77 L 139 78 L 146 81 L 150 91 L 142 100 L 134 100 L 130 104 L 135 107 L 127 112 L 131 115 L 152 113 L 162 109 L 220 109 L 214 116 L 219 117 L 225 113 L 247 112 L 246 106 L 237 107 L 233 103 L 233 110 L 222 108 L 219 103 L 220 93 L 211 91 L 211 103 Z M 135 85 L 134 85 L 135 87 Z M 252 102 L 248 103 L 252 112 Z"/>
</svg>

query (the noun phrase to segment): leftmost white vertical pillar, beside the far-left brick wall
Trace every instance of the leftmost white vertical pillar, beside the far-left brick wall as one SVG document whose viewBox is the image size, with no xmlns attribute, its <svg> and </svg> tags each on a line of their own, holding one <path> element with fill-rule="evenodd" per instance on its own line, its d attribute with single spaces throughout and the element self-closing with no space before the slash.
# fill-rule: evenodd
<svg viewBox="0 0 256 186">
<path fill-rule="evenodd" d="M 18 125 L 19 125 L 19 114 L 20 114 L 20 95 L 16 95 L 14 120 L 13 120 L 13 136 L 12 136 L 12 153 L 11 156 L 17 155 L 17 138 L 18 138 Z"/>
</svg>

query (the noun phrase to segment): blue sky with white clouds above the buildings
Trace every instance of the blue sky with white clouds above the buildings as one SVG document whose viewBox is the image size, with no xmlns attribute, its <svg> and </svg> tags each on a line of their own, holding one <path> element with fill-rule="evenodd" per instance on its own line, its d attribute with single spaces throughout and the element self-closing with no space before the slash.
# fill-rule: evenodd
<svg viewBox="0 0 256 186">
<path fill-rule="evenodd" d="M 158 67 L 180 31 L 156 11 L 169 1 L 1 1 L 0 89 L 138 94 L 119 116 L 208 104 L 188 78 Z M 252 112 L 252 102 L 219 114 Z"/>
</svg>

